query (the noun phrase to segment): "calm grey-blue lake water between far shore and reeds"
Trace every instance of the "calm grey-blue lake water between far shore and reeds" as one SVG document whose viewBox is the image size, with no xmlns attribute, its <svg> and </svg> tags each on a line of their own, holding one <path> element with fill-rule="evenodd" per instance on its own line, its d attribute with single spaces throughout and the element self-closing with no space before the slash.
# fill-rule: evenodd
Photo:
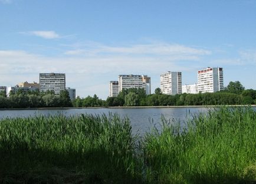
<svg viewBox="0 0 256 184">
<path fill-rule="evenodd" d="M 0 119 L 5 117 L 28 117 L 39 114 L 63 113 L 66 116 L 79 114 L 109 114 L 117 113 L 121 117 L 129 117 L 134 133 L 144 134 L 156 126 L 160 129 L 160 119 L 164 116 L 168 120 L 180 120 L 181 123 L 186 116 L 191 114 L 206 113 L 208 109 L 204 107 L 184 107 L 184 108 L 149 108 L 149 109 L 40 109 L 40 110 L 0 110 Z M 153 123 L 152 123 L 153 122 Z"/>
</svg>

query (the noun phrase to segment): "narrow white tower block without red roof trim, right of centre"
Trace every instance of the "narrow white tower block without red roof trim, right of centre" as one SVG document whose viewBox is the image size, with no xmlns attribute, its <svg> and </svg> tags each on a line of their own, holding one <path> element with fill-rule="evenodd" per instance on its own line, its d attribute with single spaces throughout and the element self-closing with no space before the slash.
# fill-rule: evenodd
<svg viewBox="0 0 256 184">
<path fill-rule="evenodd" d="M 163 94 L 182 94 L 181 72 L 167 71 L 161 74 L 160 89 Z"/>
</svg>

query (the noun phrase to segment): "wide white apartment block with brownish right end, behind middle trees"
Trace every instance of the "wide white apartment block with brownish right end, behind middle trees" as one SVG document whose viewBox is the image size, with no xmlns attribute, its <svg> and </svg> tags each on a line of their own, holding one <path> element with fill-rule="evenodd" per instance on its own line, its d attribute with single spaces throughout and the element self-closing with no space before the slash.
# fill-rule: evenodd
<svg viewBox="0 0 256 184">
<path fill-rule="evenodd" d="M 119 92 L 129 88 L 143 88 L 146 94 L 151 93 L 151 80 L 147 75 L 119 75 Z"/>
</svg>

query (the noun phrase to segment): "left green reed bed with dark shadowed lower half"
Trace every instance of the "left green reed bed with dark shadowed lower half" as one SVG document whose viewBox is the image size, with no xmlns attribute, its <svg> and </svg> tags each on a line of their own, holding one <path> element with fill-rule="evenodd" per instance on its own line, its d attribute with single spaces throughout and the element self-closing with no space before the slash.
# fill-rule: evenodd
<svg viewBox="0 0 256 184">
<path fill-rule="evenodd" d="M 0 121 L 0 183 L 140 183 L 136 137 L 117 115 Z"/>
</svg>

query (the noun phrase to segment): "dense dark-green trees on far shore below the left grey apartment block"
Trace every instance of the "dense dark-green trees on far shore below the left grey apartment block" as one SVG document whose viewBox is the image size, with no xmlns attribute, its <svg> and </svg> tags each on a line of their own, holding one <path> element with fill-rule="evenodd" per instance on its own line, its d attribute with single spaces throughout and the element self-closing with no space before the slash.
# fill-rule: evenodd
<svg viewBox="0 0 256 184">
<path fill-rule="evenodd" d="M 0 108 L 33 108 L 33 107 L 72 107 L 68 91 L 61 91 L 54 94 L 53 91 L 39 93 L 39 91 L 17 91 L 6 97 L 0 94 Z"/>
</svg>

